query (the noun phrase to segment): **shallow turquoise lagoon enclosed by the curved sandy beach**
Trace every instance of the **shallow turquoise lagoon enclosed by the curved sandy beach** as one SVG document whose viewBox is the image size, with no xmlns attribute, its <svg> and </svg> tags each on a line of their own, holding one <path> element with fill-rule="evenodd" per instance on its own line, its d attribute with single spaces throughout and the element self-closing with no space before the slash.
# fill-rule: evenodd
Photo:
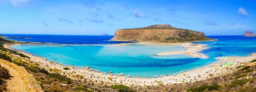
<svg viewBox="0 0 256 92">
<path fill-rule="evenodd" d="M 58 63 L 89 66 L 100 72 L 124 73 L 131 77 L 153 78 L 155 75 L 173 75 L 206 66 L 213 58 L 200 59 L 186 55 L 149 57 L 160 52 L 185 50 L 182 46 L 130 45 L 130 46 L 12 46 L 32 55 L 46 57 Z"/>
</svg>

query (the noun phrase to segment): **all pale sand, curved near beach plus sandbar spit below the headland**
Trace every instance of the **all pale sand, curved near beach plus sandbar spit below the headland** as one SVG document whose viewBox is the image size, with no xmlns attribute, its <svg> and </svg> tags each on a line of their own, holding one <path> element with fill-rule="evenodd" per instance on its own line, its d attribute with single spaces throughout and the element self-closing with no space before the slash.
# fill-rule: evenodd
<svg viewBox="0 0 256 92">
<path fill-rule="evenodd" d="M 20 44 L 15 45 L 4 45 L 5 48 L 9 48 L 10 46 L 17 46 Z M 186 54 L 193 57 L 199 57 L 199 58 L 207 58 L 207 56 L 202 55 L 198 53 L 198 51 L 201 51 L 203 49 L 207 49 L 207 47 L 204 47 L 206 45 L 204 44 L 194 44 L 194 43 L 177 43 L 172 45 L 182 45 L 186 48 L 185 51 L 181 52 L 163 52 L 159 53 L 158 55 L 172 55 L 172 54 Z M 93 70 L 87 70 L 84 68 L 74 68 L 73 66 L 64 66 L 59 63 L 54 63 L 45 60 L 45 58 L 36 57 L 31 54 L 18 51 L 24 55 L 29 56 L 31 61 L 38 62 L 41 67 L 49 70 L 49 69 L 59 69 L 61 74 L 67 75 L 67 77 L 76 79 L 76 80 L 83 80 L 79 78 L 72 77 L 74 75 L 82 75 L 84 76 L 84 79 L 96 81 L 97 83 L 107 83 L 109 85 L 111 84 L 122 84 L 123 85 L 139 85 L 139 86 L 150 86 L 150 85 L 159 85 L 160 83 L 163 83 L 164 85 L 171 84 L 171 83 L 186 83 L 186 82 L 195 82 L 198 80 L 207 80 L 211 77 L 216 77 L 220 75 L 226 75 L 227 73 L 233 72 L 233 70 L 236 68 L 236 66 L 243 65 L 246 62 L 249 62 L 250 60 L 256 59 L 256 54 L 252 54 L 247 57 L 240 57 L 240 56 L 232 56 L 232 57 L 219 57 L 220 61 L 216 63 L 212 63 L 209 66 L 204 66 L 198 69 L 194 69 L 191 71 L 182 72 L 177 75 L 169 75 L 169 76 L 157 76 L 156 78 L 130 78 L 127 75 L 123 76 L 117 76 L 117 75 L 110 75 L 108 72 L 102 73 L 102 72 L 96 72 Z M 222 59 L 222 60 L 221 60 Z M 226 61 L 227 60 L 227 61 Z M 224 63 L 233 63 L 230 66 L 221 66 Z M 64 70 L 64 67 L 68 67 L 71 70 Z M 89 66 L 90 67 L 90 66 Z M 227 69 L 227 67 L 229 69 Z M 64 73 L 65 72 L 65 73 Z M 139 75 L 138 75 L 139 76 Z M 110 80 L 111 79 L 111 80 Z"/>
</svg>

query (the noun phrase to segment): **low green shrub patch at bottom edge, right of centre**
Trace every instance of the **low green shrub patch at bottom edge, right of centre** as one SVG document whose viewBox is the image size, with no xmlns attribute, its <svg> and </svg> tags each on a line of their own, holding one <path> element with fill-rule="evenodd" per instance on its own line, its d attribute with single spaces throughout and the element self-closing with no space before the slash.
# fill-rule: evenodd
<svg viewBox="0 0 256 92">
<path fill-rule="evenodd" d="M 213 85 L 203 85 L 203 86 L 199 86 L 196 88 L 190 88 L 189 90 L 187 90 L 187 92 L 192 91 L 192 92 L 203 92 L 205 89 L 208 89 L 208 91 L 213 91 L 213 90 L 218 90 L 220 89 L 221 86 L 217 85 L 217 84 L 213 84 Z"/>
</svg>

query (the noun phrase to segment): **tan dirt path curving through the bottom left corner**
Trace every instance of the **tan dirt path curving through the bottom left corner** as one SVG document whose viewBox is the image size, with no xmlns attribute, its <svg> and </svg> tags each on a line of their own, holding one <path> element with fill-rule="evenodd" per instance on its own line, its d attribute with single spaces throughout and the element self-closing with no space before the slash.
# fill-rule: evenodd
<svg viewBox="0 0 256 92">
<path fill-rule="evenodd" d="M 10 75 L 12 76 L 10 80 L 6 80 L 7 90 L 9 92 L 27 92 L 26 86 L 23 80 L 20 78 L 19 73 L 15 69 L 5 65 L 4 63 L 1 63 L 1 66 L 8 69 Z"/>
</svg>

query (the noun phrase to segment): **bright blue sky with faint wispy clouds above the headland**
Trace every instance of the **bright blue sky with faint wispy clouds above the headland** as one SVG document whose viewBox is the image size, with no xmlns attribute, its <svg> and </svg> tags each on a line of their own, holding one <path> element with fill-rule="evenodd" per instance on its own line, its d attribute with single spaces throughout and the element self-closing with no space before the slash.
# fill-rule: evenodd
<svg viewBox="0 0 256 92">
<path fill-rule="evenodd" d="M 0 34 L 114 35 L 155 24 L 256 33 L 256 0 L 0 0 Z"/>
</svg>

